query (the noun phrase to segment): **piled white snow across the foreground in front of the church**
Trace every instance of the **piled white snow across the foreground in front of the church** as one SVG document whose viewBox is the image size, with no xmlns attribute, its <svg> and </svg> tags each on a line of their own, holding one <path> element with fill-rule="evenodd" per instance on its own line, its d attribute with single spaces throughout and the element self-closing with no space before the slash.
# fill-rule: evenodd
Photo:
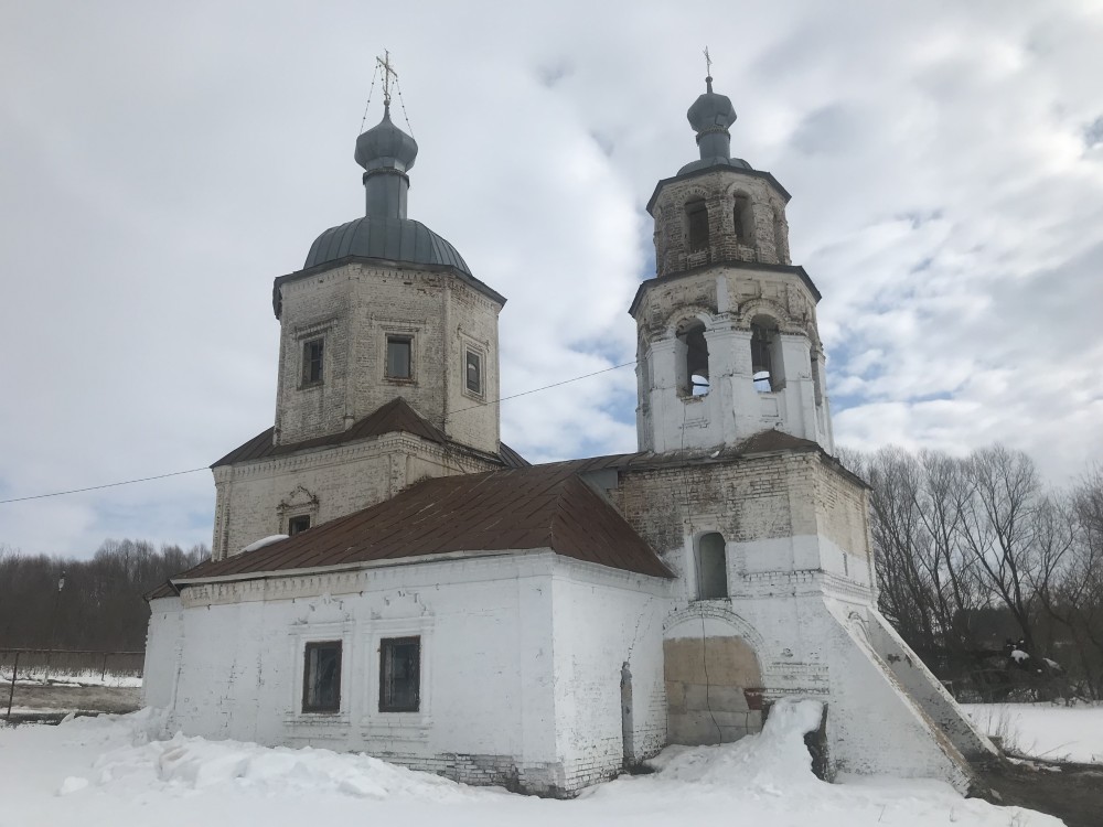
<svg viewBox="0 0 1103 827">
<path fill-rule="evenodd" d="M 930 781 L 812 775 L 801 739 L 818 705 L 778 705 L 761 735 L 672 748 L 653 775 L 591 787 L 571 802 L 468 787 L 366 755 L 267 749 L 175 735 L 154 740 L 150 710 L 0 729 L 0 827 L 156 823 L 670 827 L 713 820 L 772 827 L 1056 827 L 1049 816 L 964 799 Z"/>
</svg>

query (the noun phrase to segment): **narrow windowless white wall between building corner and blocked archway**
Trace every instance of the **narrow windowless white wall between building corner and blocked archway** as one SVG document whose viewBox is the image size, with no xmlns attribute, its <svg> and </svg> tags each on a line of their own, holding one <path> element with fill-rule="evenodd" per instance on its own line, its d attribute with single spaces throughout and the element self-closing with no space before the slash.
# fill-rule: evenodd
<svg viewBox="0 0 1103 827">
<path fill-rule="evenodd" d="M 557 558 L 553 581 L 556 742 L 571 788 L 619 773 L 625 762 L 622 666 L 632 675 L 632 754 L 666 742 L 663 617 L 670 581 Z"/>
</svg>

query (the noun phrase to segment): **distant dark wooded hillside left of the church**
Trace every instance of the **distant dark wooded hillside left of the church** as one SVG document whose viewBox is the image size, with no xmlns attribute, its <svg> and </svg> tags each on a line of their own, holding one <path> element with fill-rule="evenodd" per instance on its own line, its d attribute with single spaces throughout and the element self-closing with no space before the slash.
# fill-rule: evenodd
<svg viewBox="0 0 1103 827">
<path fill-rule="evenodd" d="M 0 649 L 140 652 L 149 621 L 143 595 L 210 556 L 203 545 L 185 551 L 130 539 L 104 541 L 90 560 L 0 546 Z"/>
</svg>

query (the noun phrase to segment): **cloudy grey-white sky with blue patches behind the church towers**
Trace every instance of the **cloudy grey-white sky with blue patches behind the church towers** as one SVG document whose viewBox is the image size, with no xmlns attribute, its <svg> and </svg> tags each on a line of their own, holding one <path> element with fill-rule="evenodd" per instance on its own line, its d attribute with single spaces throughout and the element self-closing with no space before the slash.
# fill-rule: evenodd
<svg viewBox="0 0 1103 827">
<path fill-rule="evenodd" d="M 204 469 L 272 423 L 271 280 L 363 215 L 375 58 L 409 216 L 507 297 L 502 393 L 634 359 L 645 204 L 697 157 L 793 194 L 836 441 L 1103 461 L 1103 3 L 0 0 L 0 500 Z M 635 449 L 622 367 L 502 402 L 533 461 Z M 0 504 L 0 547 L 210 543 L 208 471 Z"/>
</svg>

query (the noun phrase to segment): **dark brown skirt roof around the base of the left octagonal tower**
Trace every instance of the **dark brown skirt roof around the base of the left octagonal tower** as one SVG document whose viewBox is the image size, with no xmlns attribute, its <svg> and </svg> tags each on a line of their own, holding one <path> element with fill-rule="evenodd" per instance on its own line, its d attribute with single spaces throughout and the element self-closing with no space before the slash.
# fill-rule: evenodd
<svg viewBox="0 0 1103 827">
<path fill-rule="evenodd" d="M 263 460 L 267 457 L 280 457 L 311 448 L 330 448 L 331 445 L 340 445 L 345 442 L 354 442 L 372 437 L 382 437 L 385 433 L 395 433 L 397 431 L 413 433 L 416 437 L 421 437 L 430 442 L 437 442 L 442 445 L 450 442 L 439 428 L 414 410 L 409 402 L 400 396 L 368 414 L 354 423 L 352 428 L 339 433 L 330 433 L 325 437 L 277 445 L 272 443 L 274 430 L 274 428 L 269 428 L 261 431 L 245 444 L 238 445 L 227 453 L 211 468 L 233 465 L 237 462 L 249 462 L 251 460 Z M 521 454 L 508 445 L 500 442 L 499 448 L 497 459 L 506 468 L 523 468 L 528 464 Z"/>
</svg>

